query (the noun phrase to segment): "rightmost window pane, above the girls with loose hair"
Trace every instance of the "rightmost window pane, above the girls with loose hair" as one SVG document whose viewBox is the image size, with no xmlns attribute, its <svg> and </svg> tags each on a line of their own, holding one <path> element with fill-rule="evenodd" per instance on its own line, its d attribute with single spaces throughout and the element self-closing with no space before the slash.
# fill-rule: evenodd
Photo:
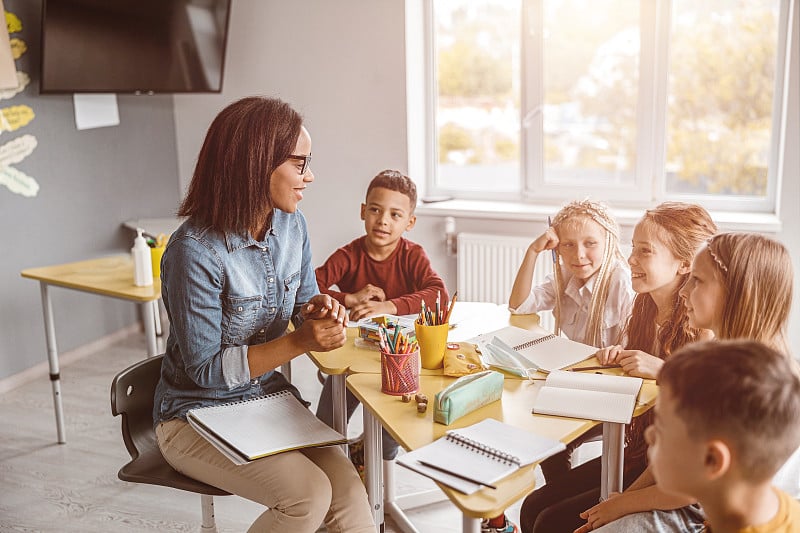
<svg viewBox="0 0 800 533">
<path fill-rule="evenodd" d="M 778 42 L 775 0 L 674 0 L 667 192 L 764 198 Z"/>
</svg>

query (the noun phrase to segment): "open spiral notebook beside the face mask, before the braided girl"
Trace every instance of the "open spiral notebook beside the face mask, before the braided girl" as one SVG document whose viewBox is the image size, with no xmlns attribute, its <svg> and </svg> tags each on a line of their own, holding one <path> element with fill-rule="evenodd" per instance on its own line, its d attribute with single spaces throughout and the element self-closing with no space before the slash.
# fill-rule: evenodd
<svg viewBox="0 0 800 533">
<path fill-rule="evenodd" d="M 579 363 L 597 352 L 594 346 L 544 333 L 544 330 L 537 332 L 516 326 L 483 333 L 473 341 L 480 346 L 490 343 L 494 337 L 514 348 L 526 368 L 540 368 L 548 372 Z M 484 362 L 491 365 L 491 361 Z"/>
</svg>

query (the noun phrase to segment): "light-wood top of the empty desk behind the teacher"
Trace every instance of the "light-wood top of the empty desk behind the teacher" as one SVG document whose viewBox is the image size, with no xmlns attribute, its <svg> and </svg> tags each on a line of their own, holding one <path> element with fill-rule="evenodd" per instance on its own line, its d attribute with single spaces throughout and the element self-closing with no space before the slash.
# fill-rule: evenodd
<svg viewBox="0 0 800 533">
<path fill-rule="evenodd" d="M 133 259 L 130 254 L 26 268 L 20 274 L 49 285 L 133 302 L 151 302 L 161 298 L 161 280 L 153 280 L 153 285 L 148 287 L 133 284 Z"/>
</svg>

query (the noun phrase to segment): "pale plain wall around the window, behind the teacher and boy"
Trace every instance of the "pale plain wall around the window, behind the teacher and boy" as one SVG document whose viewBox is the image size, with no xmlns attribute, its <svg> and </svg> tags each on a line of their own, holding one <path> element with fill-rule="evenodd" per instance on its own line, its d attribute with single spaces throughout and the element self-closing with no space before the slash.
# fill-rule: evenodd
<svg viewBox="0 0 800 533">
<path fill-rule="evenodd" d="M 205 130 L 220 108 L 251 94 L 279 96 L 303 112 L 314 143 L 317 181 L 301 209 L 311 227 L 316 262 L 362 234 L 358 205 L 366 184 L 383 168 L 407 170 L 403 17 L 399 0 L 236 0 L 222 94 L 175 96 L 181 187 L 189 182 Z M 780 203 L 784 229 L 778 238 L 789 247 L 800 274 L 797 9 L 793 43 L 791 118 Z M 441 217 L 420 216 L 409 236 L 425 247 L 434 268 L 454 289 L 455 260 L 445 254 L 443 227 Z M 463 218 L 458 219 L 458 228 L 518 235 L 541 230 L 534 222 Z M 800 346 L 798 296 L 791 324 L 792 345 Z"/>
</svg>

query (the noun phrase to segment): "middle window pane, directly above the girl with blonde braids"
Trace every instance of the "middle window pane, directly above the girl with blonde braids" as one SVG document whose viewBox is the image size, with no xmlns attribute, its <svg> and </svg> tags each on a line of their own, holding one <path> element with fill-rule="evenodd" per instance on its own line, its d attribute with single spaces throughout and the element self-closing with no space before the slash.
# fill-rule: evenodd
<svg viewBox="0 0 800 533">
<path fill-rule="evenodd" d="M 639 0 L 545 1 L 543 11 L 545 182 L 632 184 Z"/>
</svg>

